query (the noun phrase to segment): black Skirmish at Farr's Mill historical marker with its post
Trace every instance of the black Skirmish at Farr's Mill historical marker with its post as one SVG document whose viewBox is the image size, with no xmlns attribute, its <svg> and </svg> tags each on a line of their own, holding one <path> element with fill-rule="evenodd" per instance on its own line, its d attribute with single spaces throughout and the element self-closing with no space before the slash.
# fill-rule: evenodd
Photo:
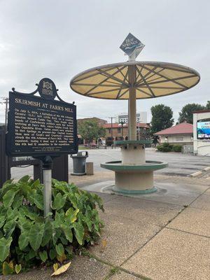
<svg viewBox="0 0 210 280">
<path fill-rule="evenodd" d="M 49 78 L 36 85 L 37 89 L 28 94 L 14 88 L 9 92 L 6 153 L 12 157 L 31 155 L 43 162 L 46 216 L 52 197 L 53 158 L 78 152 L 76 106 L 60 99 L 55 83 Z"/>
</svg>

